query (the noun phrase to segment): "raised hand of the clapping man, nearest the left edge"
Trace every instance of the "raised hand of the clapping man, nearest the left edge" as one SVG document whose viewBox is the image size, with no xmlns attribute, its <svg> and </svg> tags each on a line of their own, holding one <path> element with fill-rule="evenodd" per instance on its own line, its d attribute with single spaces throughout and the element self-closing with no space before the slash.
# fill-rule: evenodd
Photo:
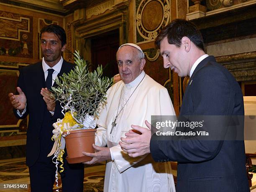
<svg viewBox="0 0 256 192">
<path fill-rule="evenodd" d="M 20 87 L 17 87 L 17 91 L 19 95 L 14 95 L 13 93 L 9 93 L 9 99 L 11 104 L 13 105 L 13 108 L 17 110 L 24 110 L 26 107 L 27 98 L 25 93 L 20 89 Z"/>
</svg>

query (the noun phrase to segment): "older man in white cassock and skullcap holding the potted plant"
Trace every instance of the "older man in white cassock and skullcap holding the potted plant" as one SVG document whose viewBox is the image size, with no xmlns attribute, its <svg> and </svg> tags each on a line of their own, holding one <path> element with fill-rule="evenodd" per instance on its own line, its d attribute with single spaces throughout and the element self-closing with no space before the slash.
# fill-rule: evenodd
<svg viewBox="0 0 256 192">
<path fill-rule="evenodd" d="M 107 102 L 97 120 L 96 153 L 85 164 L 107 160 L 104 192 L 175 192 L 169 162 L 154 162 L 151 155 L 133 158 L 118 142 L 131 125 L 146 127 L 151 115 L 175 115 L 165 87 L 143 71 L 146 60 L 138 45 L 121 45 L 116 54 L 121 81 L 107 92 Z M 108 146 L 108 147 L 105 147 Z"/>
</svg>

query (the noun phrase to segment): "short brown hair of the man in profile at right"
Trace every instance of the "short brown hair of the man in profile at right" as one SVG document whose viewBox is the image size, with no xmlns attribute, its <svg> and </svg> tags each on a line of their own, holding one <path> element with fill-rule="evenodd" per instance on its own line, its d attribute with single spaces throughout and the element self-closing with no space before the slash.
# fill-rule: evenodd
<svg viewBox="0 0 256 192">
<path fill-rule="evenodd" d="M 160 49 L 161 40 L 167 37 L 169 44 L 181 46 L 182 37 L 188 37 L 199 49 L 204 50 L 204 41 L 200 30 L 190 21 L 176 19 L 170 22 L 156 37 L 155 45 Z"/>
</svg>

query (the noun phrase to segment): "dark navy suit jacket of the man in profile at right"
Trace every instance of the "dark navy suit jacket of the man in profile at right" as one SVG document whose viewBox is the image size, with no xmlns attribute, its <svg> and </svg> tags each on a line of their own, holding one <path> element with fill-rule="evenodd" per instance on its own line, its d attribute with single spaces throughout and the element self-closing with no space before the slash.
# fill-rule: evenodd
<svg viewBox="0 0 256 192">
<path fill-rule="evenodd" d="M 244 115 L 241 88 L 213 56 L 193 72 L 180 115 Z M 244 141 L 160 141 L 153 135 L 150 151 L 157 162 L 178 162 L 177 192 L 249 191 Z"/>
</svg>

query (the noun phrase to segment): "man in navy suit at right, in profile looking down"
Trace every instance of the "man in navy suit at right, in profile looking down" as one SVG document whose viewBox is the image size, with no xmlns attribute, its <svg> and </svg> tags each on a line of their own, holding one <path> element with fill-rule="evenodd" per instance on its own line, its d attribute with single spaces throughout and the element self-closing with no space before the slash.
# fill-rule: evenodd
<svg viewBox="0 0 256 192">
<path fill-rule="evenodd" d="M 244 115 L 241 88 L 228 70 L 205 54 L 202 35 L 192 22 L 172 21 L 156 38 L 156 45 L 165 68 L 190 77 L 180 116 Z M 214 128 L 220 133 L 223 127 Z M 177 161 L 177 192 L 249 191 L 243 140 L 158 140 L 146 128 L 132 128 L 142 134 L 130 130 L 121 138 L 121 147 L 131 157 L 151 153 L 157 162 Z"/>
</svg>

